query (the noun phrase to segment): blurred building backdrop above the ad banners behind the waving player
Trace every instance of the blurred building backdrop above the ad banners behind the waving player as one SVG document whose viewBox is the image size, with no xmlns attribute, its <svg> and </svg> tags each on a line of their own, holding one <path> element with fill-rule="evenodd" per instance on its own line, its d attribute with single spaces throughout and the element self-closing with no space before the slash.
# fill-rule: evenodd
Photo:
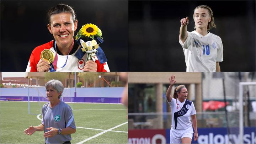
<svg viewBox="0 0 256 144">
<path fill-rule="evenodd" d="M 186 85 L 199 128 L 226 127 L 225 106 L 231 126 L 236 126 L 238 119 L 231 113 L 239 111 L 239 82 L 255 82 L 255 73 L 129 73 L 129 129 L 171 128 L 165 95 L 171 75 L 176 76 L 176 86 Z M 244 99 L 249 113 L 244 117 L 245 125 L 255 126 L 255 86 L 246 88 Z"/>
</svg>

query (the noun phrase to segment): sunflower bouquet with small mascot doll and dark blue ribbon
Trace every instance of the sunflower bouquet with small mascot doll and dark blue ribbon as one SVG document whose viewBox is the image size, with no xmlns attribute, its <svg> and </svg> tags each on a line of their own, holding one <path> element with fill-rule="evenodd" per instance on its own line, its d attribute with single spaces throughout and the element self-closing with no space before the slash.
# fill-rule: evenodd
<svg viewBox="0 0 256 144">
<path fill-rule="evenodd" d="M 87 53 L 87 60 L 99 60 L 100 63 L 107 62 L 106 56 L 99 46 L 103 43 L 102 31 L 96 25 L 87 23 L 75 36 L 76 42 L 81 45 L 81 50 L 75 54 L 81 60 L 82 56 Z"/>
</svg>

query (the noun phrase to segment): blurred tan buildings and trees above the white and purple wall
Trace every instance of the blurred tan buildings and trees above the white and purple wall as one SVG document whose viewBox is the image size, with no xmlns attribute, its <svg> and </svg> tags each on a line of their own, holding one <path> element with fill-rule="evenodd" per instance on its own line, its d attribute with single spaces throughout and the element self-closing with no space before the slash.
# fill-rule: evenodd
<svg viewBox="0 0 256 144">
<path fill-rule="evenodd" d="M 24 77 L 2 78 L 1 87 L 26 87 L 44 86 L 47 81 L 57 79 L 62 81 L 64 87 L 124 87 L 124 82 L 120 78 L 120 72 L 108 73 L 77 73 L 75 84 L 75 73 L 25 73 Z M 15 74 L 14 74 L 15 75 Z"/>
</svg>

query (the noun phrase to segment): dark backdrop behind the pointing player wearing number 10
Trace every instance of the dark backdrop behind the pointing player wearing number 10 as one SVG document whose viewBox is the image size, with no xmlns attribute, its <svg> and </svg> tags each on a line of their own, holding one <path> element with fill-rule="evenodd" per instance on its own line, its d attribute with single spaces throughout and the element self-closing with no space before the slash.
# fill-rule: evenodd
<svg viewBox="0 0 256 144">
<path fill-rule="evenodd" d="M 221 71 L 255 71 L 255 1 L 129 1 L 129 71 L 186 71 L 178 42 L 180 20 L 198 5 L 213 10 L 217 34 L 223 42 Z M 149 66 L 150 65 L 150 66 Z"/>
</svg>

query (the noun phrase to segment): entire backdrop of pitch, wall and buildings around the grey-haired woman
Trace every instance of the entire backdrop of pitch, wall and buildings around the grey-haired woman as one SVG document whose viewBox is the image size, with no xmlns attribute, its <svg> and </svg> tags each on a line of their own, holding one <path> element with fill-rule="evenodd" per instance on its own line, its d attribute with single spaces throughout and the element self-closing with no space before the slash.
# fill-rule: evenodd
<svg viewBox="0 0 256 144">
<path fill-rule="evenodd" d="M 25 73 L 2 78 L 3 73 L 0 143 L 44 143 L 43 132 L 28 136 L 23 130 L 41 123 L 42 106 L 48 102 L 43 86 L 50 79 L 63 82 L 61 100 L 73 109 L 77 128 L 71 143 L 127 143 L 121 73 Z"/>
</svg>

